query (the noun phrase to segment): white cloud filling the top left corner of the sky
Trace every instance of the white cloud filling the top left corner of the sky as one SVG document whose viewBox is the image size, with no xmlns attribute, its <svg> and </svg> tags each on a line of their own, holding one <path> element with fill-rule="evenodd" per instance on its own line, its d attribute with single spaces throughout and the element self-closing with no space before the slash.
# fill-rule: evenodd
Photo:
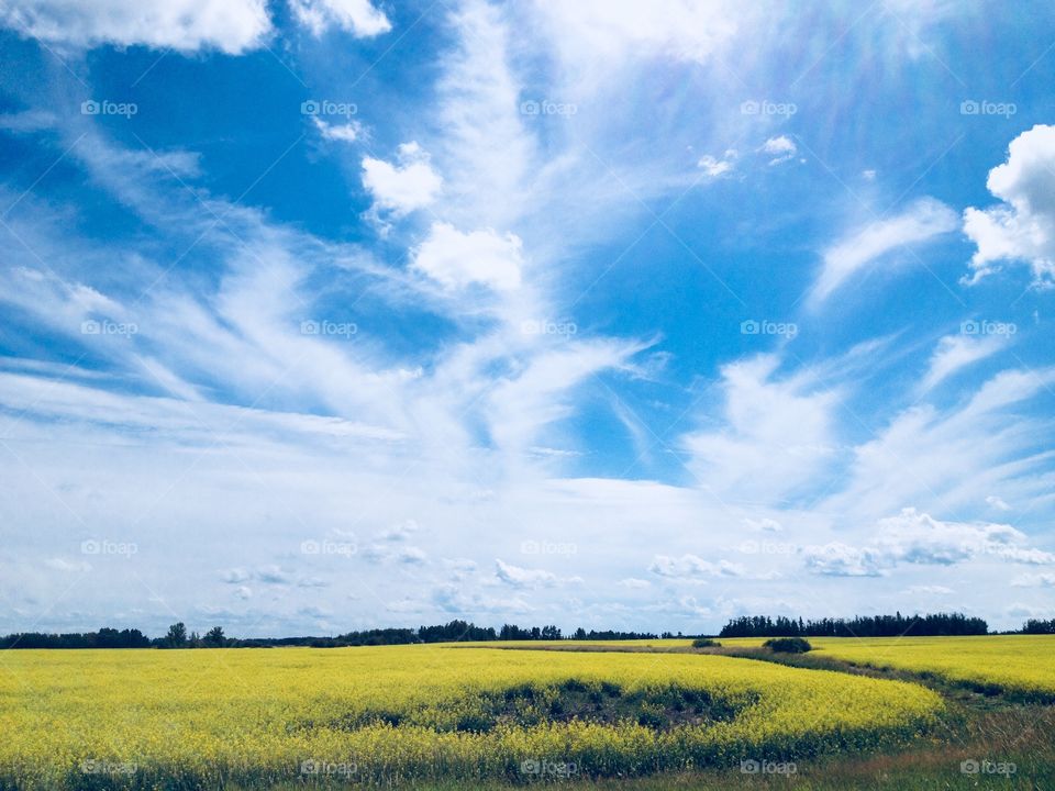
<svg viewBox="0 0 1055 791">
<path fill-rule="evenodd" d="M 271 32 L 264 0 L 13 0 L 0 5 L 0 24 L 76 47 L 142 44 L 232 55 L 260 46 Z"/>
</svg>

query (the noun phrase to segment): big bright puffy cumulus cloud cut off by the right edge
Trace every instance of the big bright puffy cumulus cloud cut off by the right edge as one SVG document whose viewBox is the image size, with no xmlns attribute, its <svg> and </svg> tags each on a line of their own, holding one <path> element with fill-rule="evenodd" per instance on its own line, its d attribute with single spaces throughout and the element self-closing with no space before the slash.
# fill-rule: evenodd
<svg viewBox="0 0 1055 791">
<path fill-rule="evenodd" d="M 1034 282 L 1055 282 L 1055 126 L 1037 124 L 1008 148 L 986 186 L 1003 203 L 964 211 L 964 233 L 978 249 L 970 259 L 976 283 L 1001 261 L 1026 261 Z"/>
</svg>

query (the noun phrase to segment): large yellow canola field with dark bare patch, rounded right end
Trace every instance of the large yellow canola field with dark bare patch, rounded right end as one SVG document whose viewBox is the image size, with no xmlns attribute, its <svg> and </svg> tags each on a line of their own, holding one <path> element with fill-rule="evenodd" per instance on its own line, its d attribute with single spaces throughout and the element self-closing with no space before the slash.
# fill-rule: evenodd
<svg viewBox="0 0 1055 791">
<path fill-rule="evenodd" d="M 512 782 L 906 744 L 917 684 L 721 656 L 446 646 L 0 655 L 0 789 Z"/>
</svg>

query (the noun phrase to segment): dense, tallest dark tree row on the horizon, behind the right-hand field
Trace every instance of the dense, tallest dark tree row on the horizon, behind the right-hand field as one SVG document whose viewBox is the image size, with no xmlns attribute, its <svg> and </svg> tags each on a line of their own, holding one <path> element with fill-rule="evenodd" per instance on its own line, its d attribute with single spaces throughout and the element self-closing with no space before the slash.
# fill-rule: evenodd
<svg viewBox="0 0 1055 791">
<path fill-rule="evenodd" d="M 980 617 L 963 613 L 928 615 L 856 615 L 853 619 L 803 621 L 768 615 L 745 615 L 731 620 L 719 637 L 918 637 L 988 634 Z"/>
</svg>

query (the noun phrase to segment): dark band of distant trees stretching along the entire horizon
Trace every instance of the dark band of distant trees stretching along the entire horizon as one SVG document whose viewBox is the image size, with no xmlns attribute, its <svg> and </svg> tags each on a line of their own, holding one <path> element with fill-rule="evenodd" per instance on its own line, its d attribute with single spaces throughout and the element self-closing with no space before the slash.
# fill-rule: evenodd
<svg viewBox="0 0 1055 791">
<path fill-rule="evenodd" d="M 853 619 L 819 619 L 803 621 L 784 616 L 752 615 L 737 617 L 722 627 L 719 637 L 899 637 L 984 635 L 988 624 L 979 617 L 960 613 L 933 615 L 858 615 Z M 1031 619 L 1017 633 L 1055 634 L 1055 619 Z M 586 631 L 581 626 L 564 634 L 556 626 L 521 627 L 506 624 L 477 626 L 466 621 L 452 621 L 437 626 L 418 628 L 374 628 L 348 632 L 335 637 L 227 637 L 220 626 L 203 635 L 188 634 L 182 623 L 173 624 L 164 637 L 147 637 L 136 628 L 101 628 L 98 632 L 43 634 L 23 632 L 0 637 L 0 650 L 9 648 L 277 648 L 308 646 L 312 648 L 342 648 L 347 646 L 411 645 L 422 643 L 488 643 L 491 640 L 629 640 L 697 637 L 680 632 L 619 632 L 615 630 Z"/>
</svg>

